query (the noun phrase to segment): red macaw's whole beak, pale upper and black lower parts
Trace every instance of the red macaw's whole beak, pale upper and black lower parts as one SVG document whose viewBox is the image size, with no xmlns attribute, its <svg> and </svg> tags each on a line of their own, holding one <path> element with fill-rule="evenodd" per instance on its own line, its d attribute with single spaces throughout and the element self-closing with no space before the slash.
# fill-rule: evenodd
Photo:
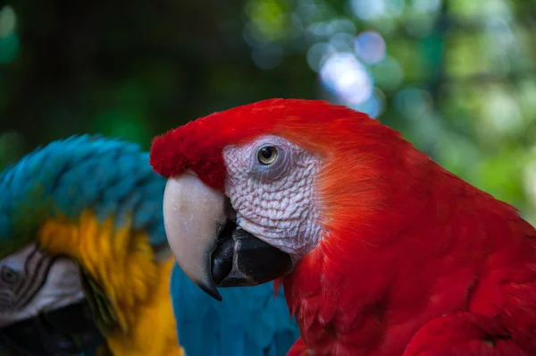
<svg viewBox="0 0 536 356">
<path fill-rule="evenodd" d="M 168 179 L 163 223 L 173 256 L 203 291 L 222 301 L 219 287 L 263 284 L 292 270 L 285 252 L 239 228 L 229 199 L 192 173 Z"/>
</svg>

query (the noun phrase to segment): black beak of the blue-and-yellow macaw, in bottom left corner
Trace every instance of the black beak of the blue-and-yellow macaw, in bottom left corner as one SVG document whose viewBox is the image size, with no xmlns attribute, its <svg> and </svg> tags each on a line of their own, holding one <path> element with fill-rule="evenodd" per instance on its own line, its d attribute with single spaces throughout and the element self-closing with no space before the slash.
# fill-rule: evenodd
<svg viewBox="0 0 536 356">
<path fill-rule="evenodd" d="M 105 341 L 87 301 L 55 309 L 0 329 L 0 354 L 79 356 Z"/>
</svg>

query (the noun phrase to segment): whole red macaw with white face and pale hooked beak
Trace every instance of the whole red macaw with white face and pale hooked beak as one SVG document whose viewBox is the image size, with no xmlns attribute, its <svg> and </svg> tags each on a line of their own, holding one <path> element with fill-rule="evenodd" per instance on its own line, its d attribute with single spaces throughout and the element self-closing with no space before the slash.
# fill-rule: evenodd
<svg viewBox="0 0 536 356">
<path fill-rule="evenodd" d="M 279 278 L 289 355 L 536 355 L 535 229 L 366 114 L 264 100 L 157 137 L 150 162 L 180 267 L 215 298 Z"/>
</svg>

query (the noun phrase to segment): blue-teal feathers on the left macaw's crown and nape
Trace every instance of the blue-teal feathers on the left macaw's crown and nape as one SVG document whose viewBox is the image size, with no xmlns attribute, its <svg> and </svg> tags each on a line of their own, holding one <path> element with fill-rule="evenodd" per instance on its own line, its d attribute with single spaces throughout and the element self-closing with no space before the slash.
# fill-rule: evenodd
<svg viewBox="0 0 536 356">
<path fill-rule="evenodd" d="M 99 220 L 124 225 L 132 216 L 151 243 L 165 243 L 165 180 L 137 144 L 100 135 L 71 136 L 37 148 L 0 174 L 0 258 L 33 239 L 46 218 L 76 220 L 91 209 Z"/>
</svg>

